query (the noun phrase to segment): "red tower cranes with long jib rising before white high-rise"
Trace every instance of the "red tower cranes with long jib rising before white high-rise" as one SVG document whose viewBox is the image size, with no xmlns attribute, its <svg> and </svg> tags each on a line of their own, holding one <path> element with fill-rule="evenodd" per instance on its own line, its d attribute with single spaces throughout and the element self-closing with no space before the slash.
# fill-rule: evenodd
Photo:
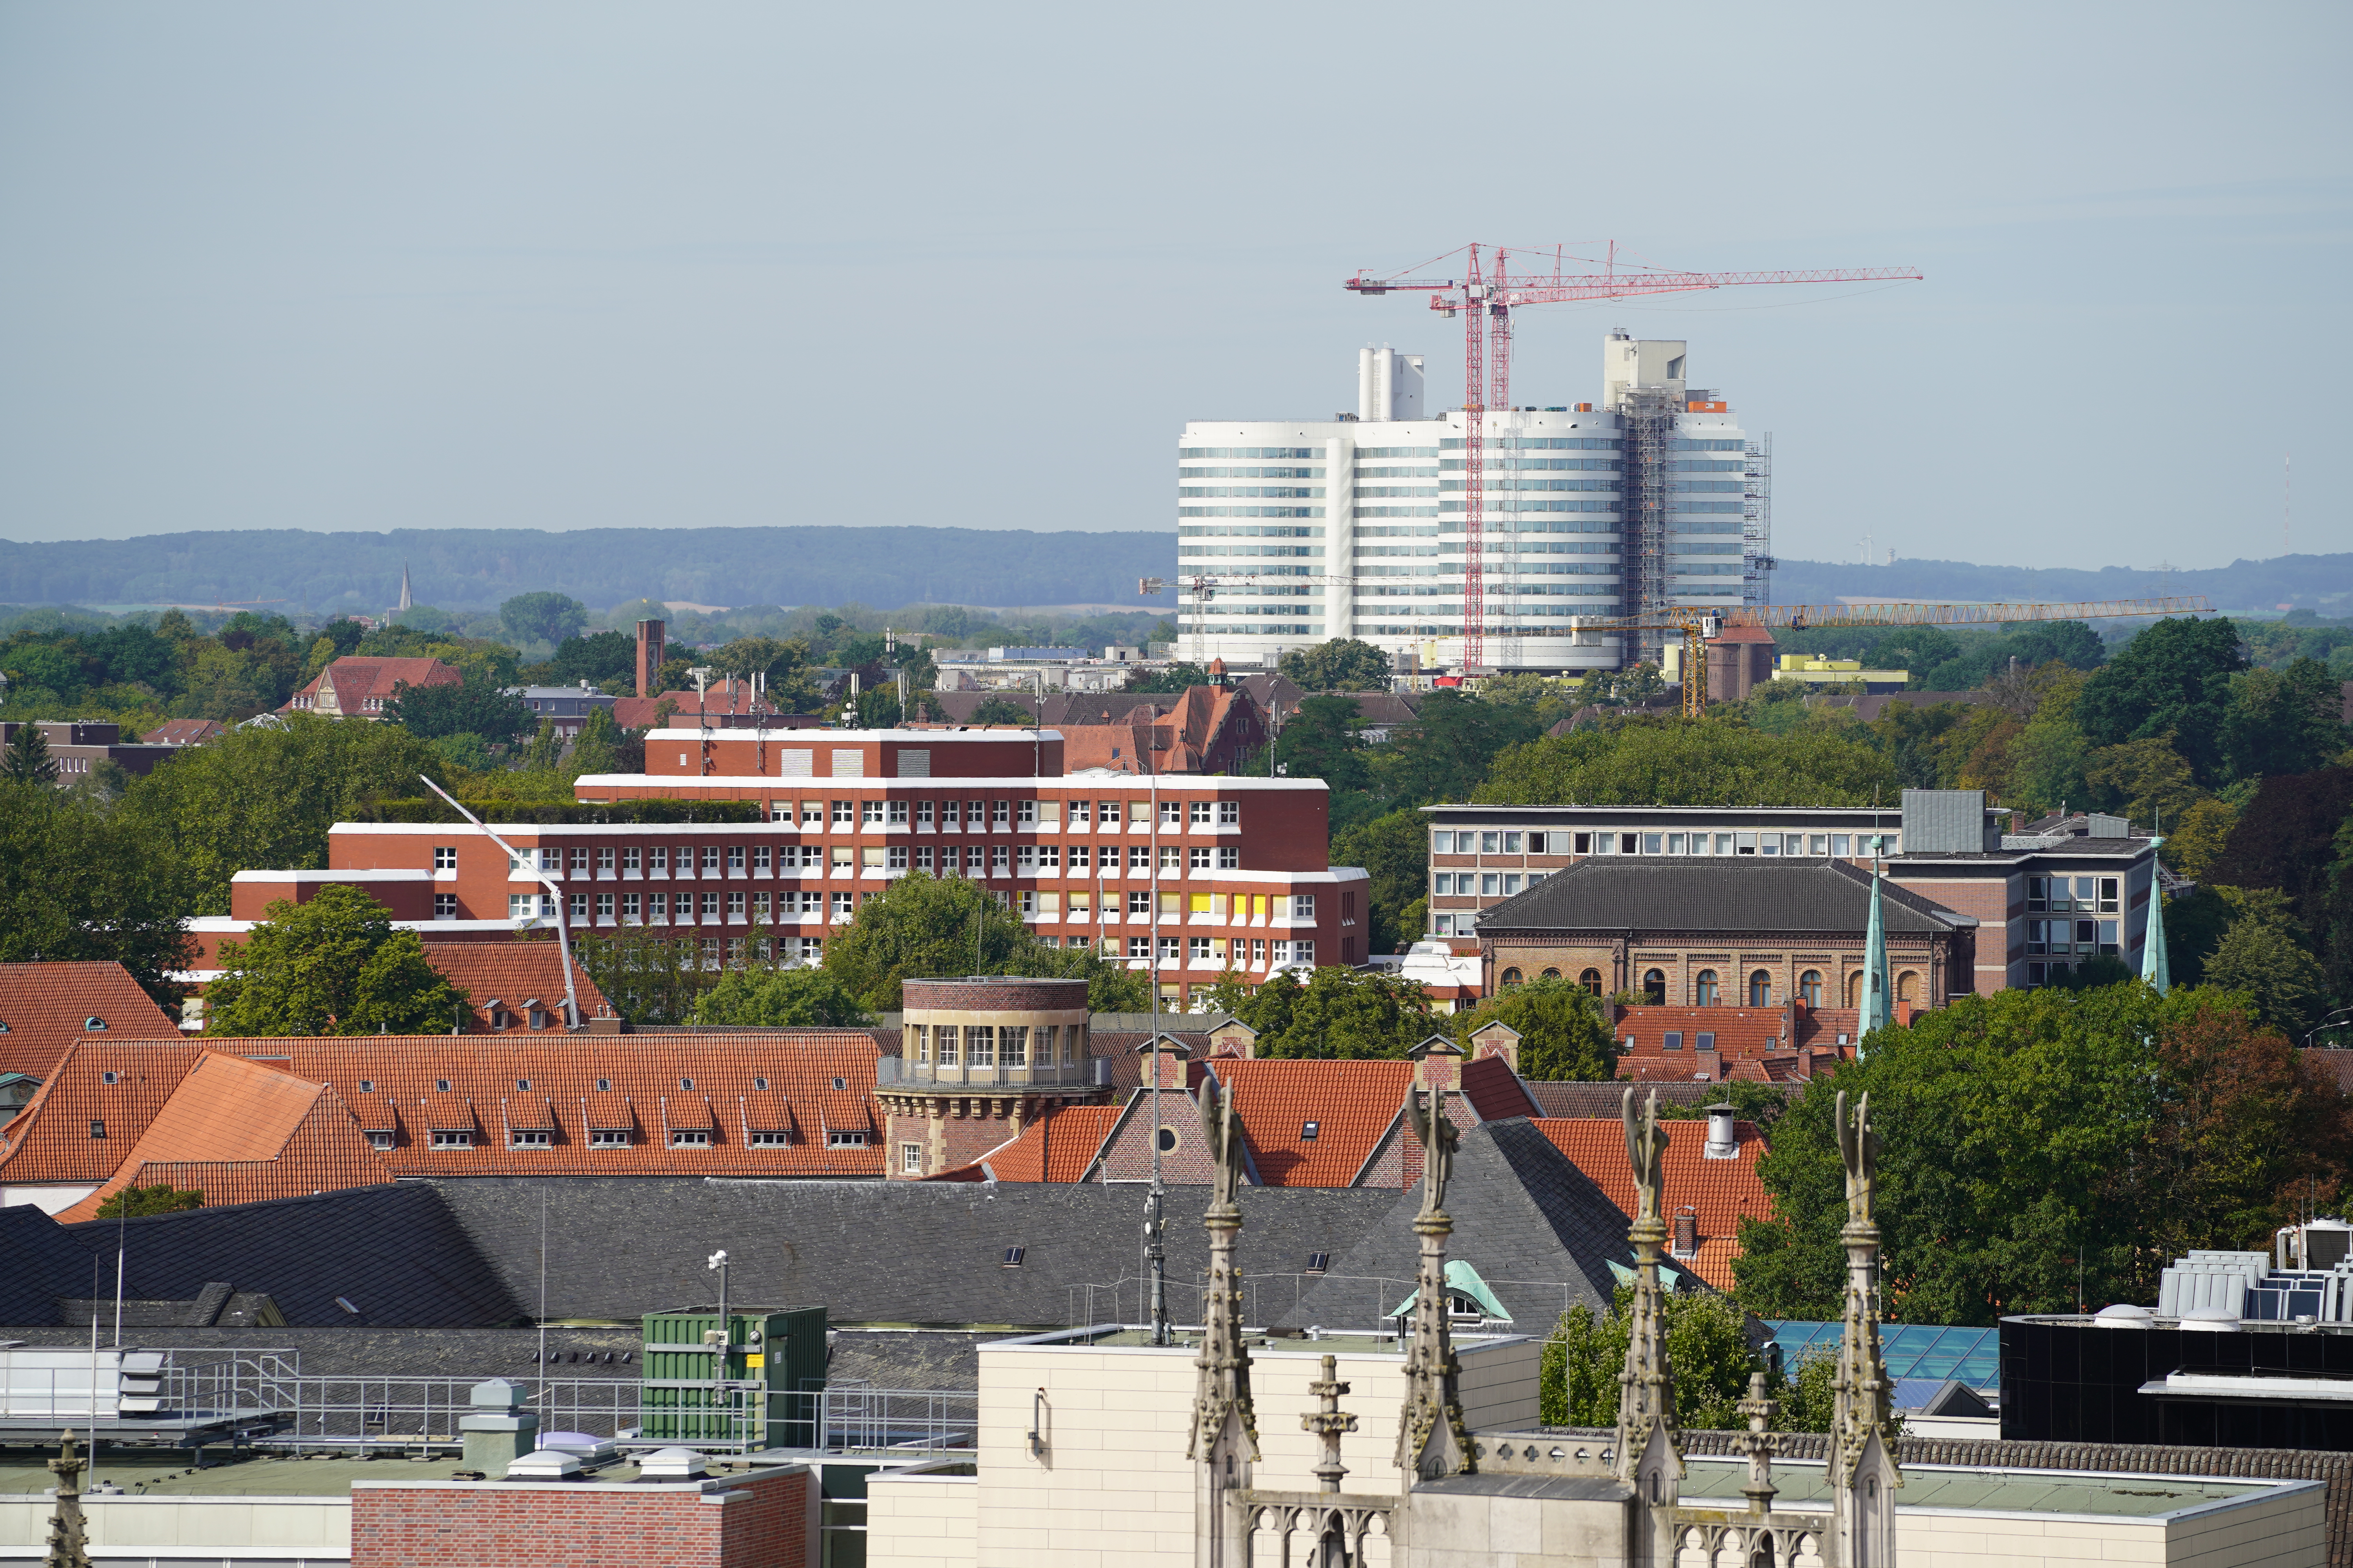
<svg viewBox="0 0 2353 1568">
<path fill-rule="evenodd" d="M 1433 256 L 1405 273 L 1369 277 L 1362 270 L 1344 287 L 1353 294 L 1400 294 L 1421 292 L 1431 296 L 1431 310 L 1464 317 L 1464 531 L 1468 534 L 1464 567 L 1464 672 L 1478 672 L 1487 661 L 1487 588 L 1480 538 L 1485 524 L 1487 482 L 1487 409 L 1511 409 L 1511 310 L 1513 306 L 1558 306 L 1572 299 L 1633 299 L 1638 294 L 1689 294 L 1694 289 L 1725 289 L 1758 282 L 1871 282 L 1871 280 L 1918 280 L 1918 268 L 1814 268 L 1809 273 L 1671 273 L 1664 268 L 1617 266 L 1617 242 L 1600 261 L 1600 273 L 1567 273 L 1569 261 L 1593 266 L 1591 256 L 1569 256 L 1565 247 L 1553 247 L 1553 270 L 1529 277 L 1508 275 L 1508 256 L 1501 244 L 1487 247 L 1492 275 L 1480 273 L 1480 247 L 1466 244 L 1459 252 Z M 1464 256 L 1461 277 L 1409 277 L 1428 266 Z M 1492 364 L 1492 371 L 1489 371 Z M 1482 397 L 1492 388 L 1492 397 Z M 1657 609 L 1638 604 L 1638 611 Z"/>
</svg>

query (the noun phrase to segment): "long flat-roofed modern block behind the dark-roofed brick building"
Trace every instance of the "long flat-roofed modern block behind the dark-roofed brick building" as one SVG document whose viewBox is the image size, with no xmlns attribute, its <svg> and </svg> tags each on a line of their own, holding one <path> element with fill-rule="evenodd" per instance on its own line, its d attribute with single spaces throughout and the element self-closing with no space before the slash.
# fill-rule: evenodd
<svg viewBox="0 0 2353 1568">
<path fill-rule="evenodd" d="M 2094 954 L 2141 969 L 2155 842 L 2125 818 L 2005 827 L 1981 790 L 1906 790 L 1899 806 L 1424 806 L 1431 936 L 1468 938 L 1485 910 L 1588 858 L 1873 863 L 1977 922 L 1953 994 L 2045 985 Z M 1673 1001 L 1687 1001 L 1671 997 Z M 1774 997 L 1769 1004 L 1779 1004 Z M 1934 1001 L 1929 1001 L 1934 1004 Z"/>
</svg>

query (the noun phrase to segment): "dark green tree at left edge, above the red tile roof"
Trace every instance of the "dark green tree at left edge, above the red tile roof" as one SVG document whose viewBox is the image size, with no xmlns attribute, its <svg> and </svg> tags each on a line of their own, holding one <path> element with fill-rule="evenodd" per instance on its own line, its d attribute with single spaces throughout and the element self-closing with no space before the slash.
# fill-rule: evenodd
<svg viewBox="0 0 2353 1568">
<path fill-rule="evenodd" d="M 195 961 L 184 907 L 172 846 L 129 813 L 80 790 L 0 785 L 0 964 L 111 959 L 176 1006 L 172 973 Z"/>
</svg>

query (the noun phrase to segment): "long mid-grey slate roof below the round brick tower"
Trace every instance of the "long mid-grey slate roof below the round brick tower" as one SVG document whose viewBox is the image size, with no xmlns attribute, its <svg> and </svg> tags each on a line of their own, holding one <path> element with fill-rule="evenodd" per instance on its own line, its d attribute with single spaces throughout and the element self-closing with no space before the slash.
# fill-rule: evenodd
<svg viewBox="0 0 2353 1568">
<path fill-rule="evenodd" d="M 548 1314 L 633 1319 L 711 1298 L 704 1260 L 732 1258 L 732 1295 L 824 1305 L 840 1324 L 1061 1328 L 1087 1321 L 1078 1286 L 1127 1281 L 1125 1309 L 1094 1293 L 1094 1321 L 1134 1319 L 1144 1272 L 1141 1185 L 732 1182 L 701 1178 L 468 1178 L 445 1199 L 518 1300 L 539 1291 L 539 1199 L 548 1199 Z M 1339 1258 L 1395 1192 L 1252 1190 L 1249 1272 Z M 1169 1190 L 1172 1309 L 1198 1316 L 1209 1265 L 1207 1187 Z M 1005 1248 L 1021 1267 L 1002 1267 Z"/>
</svg>

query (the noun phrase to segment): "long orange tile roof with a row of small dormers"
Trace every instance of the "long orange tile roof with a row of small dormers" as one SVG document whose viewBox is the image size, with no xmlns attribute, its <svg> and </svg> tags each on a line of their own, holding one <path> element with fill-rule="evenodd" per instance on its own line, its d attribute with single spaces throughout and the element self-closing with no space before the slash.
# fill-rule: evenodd
<svg viewBox="0 0 2353 1568">
<path fill-rule="evenodd" d="M 802 1030 L 82 1041 L 56 1079 L 0 1126 L 0 1180 L 111 1178 L 202 1051 L 332 1084 L 362 1128 L 393 1133 L 384 1152 L 393 1175 L 882 1175 L 873 1034 Z M 101 1081 L 108 1070 L 118 1084 Z M 753 1095 L 781 1095 L 793 1107 L 791 1128 L 751 1128 L 791 1131 L 791 1143 L 748 1140 Z M 106 1138 L 92 1140 L 87 1124 L 99 1117 Z M 548 1147 L 511 1147 L 513 1131 L 548 1121 Z M 708 1126 L 711 1143 L 671 1147 L 666 1131 L 680 1126 Z M 591 1147 L 588 1133 L 605 1128 L 631 1128 L 631 1143 Z M 866 1147 L 828 1147 L 828 1128 L 866 1131 Z M 471 1131 L 473 1145 L 433 1147 L 435 1131 Z"/>
</svg>

